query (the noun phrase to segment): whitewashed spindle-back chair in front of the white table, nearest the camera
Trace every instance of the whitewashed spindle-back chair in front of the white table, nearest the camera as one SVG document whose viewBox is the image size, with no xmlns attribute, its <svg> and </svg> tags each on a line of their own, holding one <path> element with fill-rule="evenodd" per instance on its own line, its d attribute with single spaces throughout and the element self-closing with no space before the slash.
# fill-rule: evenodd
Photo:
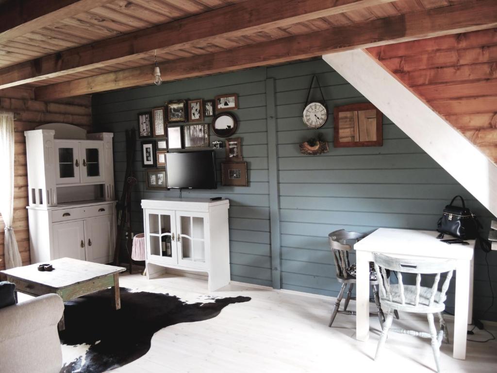
<svg viewBox="0 0 497 373">
<path fill-rule="evenodd" d="M 453 270 L 456 268 L 454 260 L 443 259 L 405 259 L 386 256 L 383 254 L 374 254 L 374 266 L 376 273 L 380 274 L 380 299 L 383 306 L 388 307 L 387 318 L 384 328 L 381 333 L 380 341 L 376 349 L 375 360 L 378 358 L 380 350 L 388 336 L 389 330 L 396 333 L 409 334 L 413 336 L 431 338 L 431 348 L 435 358 L 437 372 L 440 372 L 440 345 L 442 339 L 448 343 L 447 324 L 442 316 L 442 311 L 445 309 L 445 299 L 447 298 L 447 289 L 449 288 L 450 279 L 452 278 Z M 399 283 L 390 283 L 387 278 L 386 271 L 394 271 L 397 274 Z M 380 272 L 381 271 L 381 272 Z M 405 285 L 403 282 L 402 273 L 415 274 L 416 284 Z M 442 287 L 438 290 L 441 274 L 447 273 Z M 429 281 L 427 274 L 435 274 L 431 287 L 421 286 L 421 275 L 424 281 Z M 426 279 L 428 278 L 428 279 Z M 429 333 L 418 332 L 405 329 L 390 329 L 392 325 L 393 310 L 400 310 L 414 313 L 425 313 L 428 318 Z M 437 333 L 434 314 L 438 315 L 440 322 L 440 331 Z"/>
</svg>

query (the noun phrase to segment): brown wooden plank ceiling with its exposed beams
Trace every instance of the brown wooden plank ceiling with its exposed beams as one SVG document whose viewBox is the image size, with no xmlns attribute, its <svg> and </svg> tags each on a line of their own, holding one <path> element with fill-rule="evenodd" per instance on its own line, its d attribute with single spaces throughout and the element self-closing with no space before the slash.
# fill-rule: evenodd
<svg viewBox="0 0 497 373">
<path fill-rule="evenodd" d="M 56 99 L 144 85 L 145 77 L 152 82 L 156 50 L 163 79 L 176 80 L 485 29 L 497 26 L 496 3 L 6 0 L 0 2 L 0 89 L 36 87 L 38 98 Z"/>
</svg>

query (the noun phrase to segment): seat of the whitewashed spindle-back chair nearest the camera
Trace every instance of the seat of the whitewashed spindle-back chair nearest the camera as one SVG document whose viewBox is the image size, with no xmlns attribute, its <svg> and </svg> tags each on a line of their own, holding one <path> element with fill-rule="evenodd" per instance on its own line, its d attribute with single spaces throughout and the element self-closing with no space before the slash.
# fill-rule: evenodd
<svg viewBox="0 0 497 373">
<path fill-rule="evenodd" d="M 392 300 L 389 298 L 385 298 L 380 292 L 380 300 L 381 304 L 397 309 L 399 311 L 405 312 L 415 312 L 415 313 L 435 313 L 442 312 L 445 309 L 444 303 L 438 303 L 438 299 L 440 299 L 440 291 L 437 291 L 435 294 L 435 300 L 433 305 L 429 305 L 430 296 L 431 296 L 431 288 L 420 286 L 419 288 L 419 304 L 415 306 L 415 298 L 416 298 L 416 286 L 415 285 L 404 285 L 404 297 L 406 298 L 405 304 L 401 303 L 401 294 L 400 294 L 400 286 L 398 284 L 390 284 L 390 291 L 392 292 Z"/>
</svg>

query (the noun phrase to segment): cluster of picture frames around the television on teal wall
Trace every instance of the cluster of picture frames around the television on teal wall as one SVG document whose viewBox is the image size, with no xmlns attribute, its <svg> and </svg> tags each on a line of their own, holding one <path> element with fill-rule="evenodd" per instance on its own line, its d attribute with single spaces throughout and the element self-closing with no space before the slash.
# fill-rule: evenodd
<svg viewBox="0 0 497 373">
<path fill-rule="evenodd" d="M 214 99 L 180 99 L 138 114 L 138 135 L 142 139 L 142 167 L 146 168 L 147 189 L 167 190 L 166 153 L 199 148 L 224 148 L 221 182 L 228 187 L 248 187 L 247 162 L 242 157 L 242 139 L 233 137 L 238 120 L 238 94 L 221 94 Z M 208 123 L 210 121 L 210 123 Z M 224 141 L 210 143 L 210 131 Z M 223 151 L 217 154 L 218 158 Z M 222 157 L 222 156 L 221 156 Z"/>
</svg>

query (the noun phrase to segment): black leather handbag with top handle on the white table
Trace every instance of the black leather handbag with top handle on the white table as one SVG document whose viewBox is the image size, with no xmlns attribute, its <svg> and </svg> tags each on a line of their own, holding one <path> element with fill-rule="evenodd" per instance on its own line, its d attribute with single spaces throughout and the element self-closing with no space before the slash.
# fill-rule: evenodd
<svg viewBox="0 0 497 373">
<path fill-rule="evenodd" d="M 461 199 L 462 207 L 452 204 L 457 197 Z M 466 208 L 463 197 L 456 195 L 443 209 L 443 215 L 438 219 L 437 231 L 463 240 L 473 240 L 478 236 L 479 228 L 483 227 L 470 209 Z"/>
</svg>

